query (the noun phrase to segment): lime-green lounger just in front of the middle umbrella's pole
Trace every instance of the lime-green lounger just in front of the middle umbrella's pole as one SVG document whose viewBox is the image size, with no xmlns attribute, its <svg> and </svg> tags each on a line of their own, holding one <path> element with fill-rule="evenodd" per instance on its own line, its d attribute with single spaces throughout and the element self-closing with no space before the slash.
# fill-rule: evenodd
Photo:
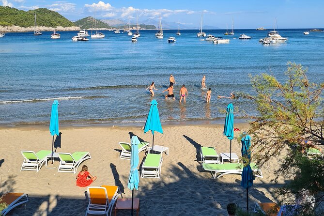
<svg viewBox="0 0 324 216">
<path fill-rule="evenodd" d="M 141 169 L 141 178 L 157 178 L 161 176 L 162 154 L 147 154 Z"/>
</svg>

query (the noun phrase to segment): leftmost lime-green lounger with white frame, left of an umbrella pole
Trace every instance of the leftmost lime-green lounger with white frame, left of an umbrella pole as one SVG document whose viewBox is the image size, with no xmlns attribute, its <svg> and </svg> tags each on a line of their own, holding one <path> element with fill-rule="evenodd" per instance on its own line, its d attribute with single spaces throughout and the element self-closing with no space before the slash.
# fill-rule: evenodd
<svg viewBox="0 0 324 216">
<path fill-rule="evenodd" d="M 46 156 L 51 154 L 51 151 L 41 150 L 37 153 L 33 151 L 21 151 L 24 157 L 24 162 L 21 165 L 21 170 L 39 171 L 46 162 Z"/>
</svg>

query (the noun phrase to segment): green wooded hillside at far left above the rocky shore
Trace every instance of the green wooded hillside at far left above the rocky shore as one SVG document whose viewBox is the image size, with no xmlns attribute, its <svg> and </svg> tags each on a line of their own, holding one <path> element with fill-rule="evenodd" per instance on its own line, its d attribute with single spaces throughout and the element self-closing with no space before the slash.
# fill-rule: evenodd
<svg viewBox="0 0 324 216">
<path fill-rule="evenodd" d="M 75 26 L 73 22 L 66 19 L 55 11 L 46 8 L 38 8 L 30 11 L 18 10 L 16 8 L 0 6 L 0 26 L 34 26 L 34 14 L 37 17 L 37 26 L 46 27 L 71 27 Z"/>
</svg>

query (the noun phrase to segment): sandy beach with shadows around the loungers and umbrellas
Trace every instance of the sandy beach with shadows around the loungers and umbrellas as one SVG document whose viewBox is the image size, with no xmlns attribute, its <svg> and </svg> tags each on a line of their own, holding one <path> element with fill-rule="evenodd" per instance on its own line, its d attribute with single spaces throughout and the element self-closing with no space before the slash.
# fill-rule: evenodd
<svg viewBox="0 0 324 216">
<path fill-rule="evenodd" d="M 247 130 L 247 123 L 234 124 Z M 236 202 L 242 208 L 246 206 L 246 192 L 240 185 L 240 175 L 225 175 L 213 179 L 210 172 L 202 171 L 199 149 L 201 146 L 213 146 L 217 153 L 229 152 L 229 140 L 222 135 L 222 124 L 207 125 L 163 125 L 163 134 L 156 133 L 154 145 L 167 146 L 170 154 L 163 153 L 160 179 L 140 178 L 139 190 L 135 197 L 140 199 L 140 216 L 183 216 L 183 215 L 217 215 L 227 216 L 226 206 Z M 119 141 L 130 142 L 130 134 L 151 142 L 152 134 L 144 134 L 140 127 L 61 126 L 61 148 L 57 152 L 73 153 L 89 151 L 92 159 L 81 164 L 87 165 L 92 175 L 98 179 L 92 184 L 119 185 L 123 198 L 130 198 L 127 188 L 130 170 L 129 160 L 119 158 Z M 87 188 L 76 186 L 76 175 L 58 173 L 57 169 L 39 172 L 21 171 L 23 162 L 21 150 L 50 150 L 52 137 L 48 126 L 2 127 L 0 174 L 2 176 L 0 193 L 24 192 L 30 201 L 16 207 L 11 216 L 83 216 L 88 201 Z M 239 132 L 234 132 L 238 136 Z M 252 139 L 253 145 L 253 139 Z M 232 142 L 232 152 L 241 155 L 241 144 Z M 139 167 L 144 161 L 145 153 L 139 154 Z M 249 189 L 249 208 L 256 201 L 276 201 L 273 188 L 278 185 L 270 182 L 277 160 L 272 159 L 262 168 L 263 179 L 256 178 Z M 58 161 L 55 162 L 58 167 Z M 77 172 L 78 172 L 77 171 Z M 117 216 L 129 215 L 130 211 L 118 211 Z"/>
</svg>

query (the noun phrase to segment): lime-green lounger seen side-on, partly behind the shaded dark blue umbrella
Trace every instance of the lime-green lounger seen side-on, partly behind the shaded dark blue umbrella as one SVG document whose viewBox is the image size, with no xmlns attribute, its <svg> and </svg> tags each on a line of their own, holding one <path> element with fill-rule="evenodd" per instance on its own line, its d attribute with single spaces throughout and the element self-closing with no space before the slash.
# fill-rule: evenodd
<svg viewBox="0 0 324 216">
<path fill-rule="evenodd" d="M 240 166 L 240 169 L 237 169 L 238 166 Z M 256 164 L 251 163 L 250 164 L 252 171 L 255 172 L 254 176 L 263 178 L 262 171 L 259 170 L 259 168 L 256 166 Z M 202 164 L 202 168 L 206 171 L 210 171 L 216 179 L 217 174 L 217 179 L 223 175 L 227 174 L 241 174 L 242 169 L 243 169 L 243 164 L 238 164 L 238 163 L 229 163 L 229 164 Z"/>
</svg>

